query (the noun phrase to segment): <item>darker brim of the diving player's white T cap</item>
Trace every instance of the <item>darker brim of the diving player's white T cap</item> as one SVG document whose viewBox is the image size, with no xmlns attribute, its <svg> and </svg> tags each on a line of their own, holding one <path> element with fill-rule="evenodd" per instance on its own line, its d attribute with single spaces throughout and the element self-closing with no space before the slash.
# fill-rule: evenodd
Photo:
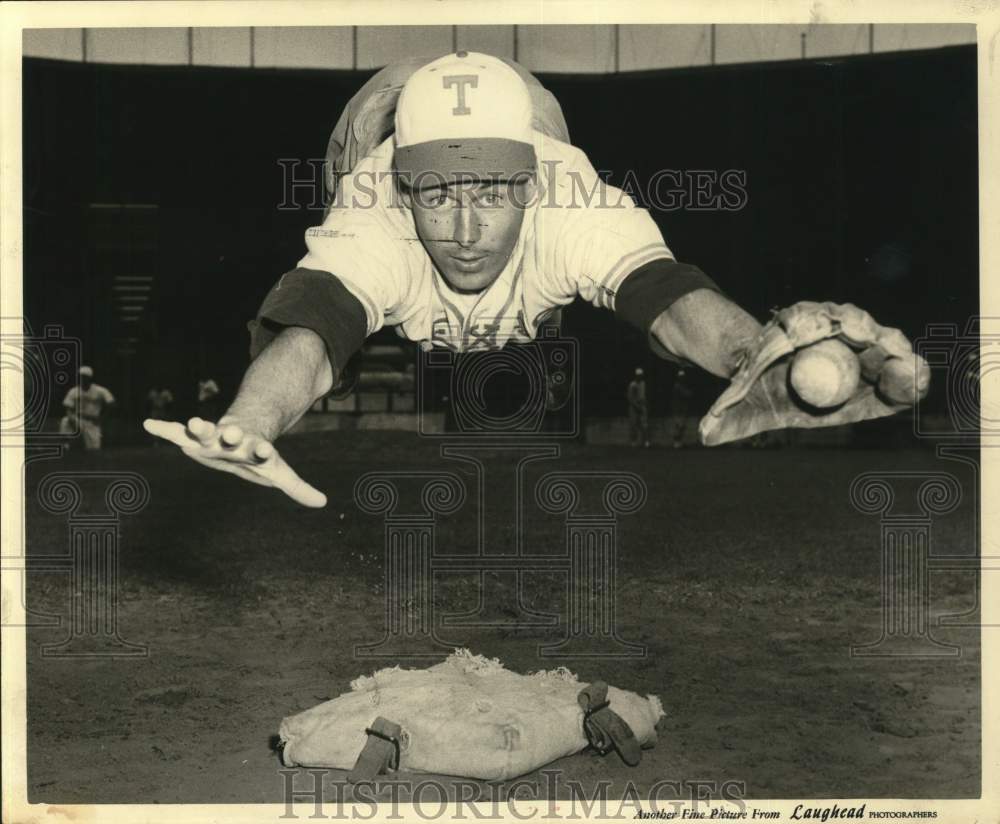
<svg viewBox="0 0 1000 824">
<path fill-rule="evenodd" d="M 451 138 L 398 146 L 394 163 L 411 189 L 452 183 L 516 180 L 535 173 L 535 147 L 499 137 Z"/>
</svg>

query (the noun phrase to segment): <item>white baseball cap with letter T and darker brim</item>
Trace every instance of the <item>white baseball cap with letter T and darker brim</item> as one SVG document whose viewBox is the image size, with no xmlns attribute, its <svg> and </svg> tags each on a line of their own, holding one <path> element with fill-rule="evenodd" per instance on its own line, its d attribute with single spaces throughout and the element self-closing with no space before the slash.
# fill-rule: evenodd
<svg viewBox="0 0 1000 824">
<path fill-rule="evenodd" d="M 531 117 L 514 69 L 488 54 L 447 54 L 415 71 L 399 95 L 396 171 L 413 188 L 531 174 Z"/>
</svg>

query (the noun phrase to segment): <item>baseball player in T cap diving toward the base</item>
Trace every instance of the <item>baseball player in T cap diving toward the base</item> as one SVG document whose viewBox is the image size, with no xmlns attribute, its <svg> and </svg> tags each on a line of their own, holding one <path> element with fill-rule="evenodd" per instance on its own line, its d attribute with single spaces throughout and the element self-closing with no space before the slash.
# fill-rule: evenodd
<svg viewBox="0 0 1000 824">
<path fill-rule="evenodd" d="M 425 349 L 498 349 L 531 341 L 577 297 L 637 327 L 658 355 L 733 380 L 706 442 L 901 408 L 868 393 L 792 421 L 784 376 L 756 368 L 771 339 L 761 324 L 675 260 L 650 215 L 570 145 L 554 98 L 509 62 L 460 51 L 379 72 L 348 104 L 327 160 L 335 197 L 250 324 L 252 359 L 232 405 L 217 423 L 146 422 L 206 466 L 323 506 L 274 441 L 365 338 L 391 326 Z M 822 306 L 832 307 L 826 328 L 846 311 Z"/>
</svg>

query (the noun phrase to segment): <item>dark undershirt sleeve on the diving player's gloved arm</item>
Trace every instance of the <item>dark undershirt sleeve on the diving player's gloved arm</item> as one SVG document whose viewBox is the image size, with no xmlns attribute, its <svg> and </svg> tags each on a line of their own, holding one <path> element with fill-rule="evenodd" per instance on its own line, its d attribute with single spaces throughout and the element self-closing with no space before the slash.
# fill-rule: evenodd
<svg viewBox="0 0 1000 824">
<path fill-rule="evenodd" d="M 638 329 L 654 351 L 670 360 L 678 360 L 650 336 L 649 330 L 665 309 L 696 289 L 721 289 L 697 266 L 673 260 L 654 260 L 626 275 L 615 295 L 615 314 Z"/>
</svg>

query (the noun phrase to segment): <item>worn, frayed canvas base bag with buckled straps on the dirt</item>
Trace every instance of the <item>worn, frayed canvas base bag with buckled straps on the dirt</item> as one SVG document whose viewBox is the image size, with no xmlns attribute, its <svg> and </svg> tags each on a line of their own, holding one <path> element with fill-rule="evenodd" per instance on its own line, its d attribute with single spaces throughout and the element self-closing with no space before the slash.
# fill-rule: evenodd
<svg viewBox="0 0 1000 824">
<path fill-rule="evenodd" d="M 588 746 L 629 765 L 656 742 L 663 708 L 559 668 L 520 675 L 456 650 L 428 669 L 392 667 L 281 722 L 286 766 L 396 770 L 482 780 L 515 778 Z"/>
</svg>

